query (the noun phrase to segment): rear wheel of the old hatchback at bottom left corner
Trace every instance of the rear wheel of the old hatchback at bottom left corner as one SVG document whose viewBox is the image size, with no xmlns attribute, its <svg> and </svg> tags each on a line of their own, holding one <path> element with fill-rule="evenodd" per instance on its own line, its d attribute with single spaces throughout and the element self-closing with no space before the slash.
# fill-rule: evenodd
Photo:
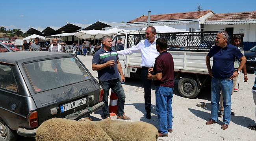
<svg viewBox="0 0 256 141">
<path fill-rule="evenodd" d="M 0 118 L 0 141 L 16 141 L 17 137 L 17 131 L 11 130 Z"/>
</svg>

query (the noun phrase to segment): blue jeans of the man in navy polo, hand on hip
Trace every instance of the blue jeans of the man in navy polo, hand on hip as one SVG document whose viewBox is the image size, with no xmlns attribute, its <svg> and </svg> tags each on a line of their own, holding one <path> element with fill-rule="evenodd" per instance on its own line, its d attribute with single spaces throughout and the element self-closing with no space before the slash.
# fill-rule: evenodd
<svg viewBox="0 0 256 141">
<path fill-rule="evenodd" d="M 232 87 L 233 80 L 229 80 L 228 78 L 211 78 L 211 119 L 216 122 L 218 120 L 219 100 L 222 90 L 224 107 L 223 123 L 227 125 L 230 123 Z"/>
</svg>

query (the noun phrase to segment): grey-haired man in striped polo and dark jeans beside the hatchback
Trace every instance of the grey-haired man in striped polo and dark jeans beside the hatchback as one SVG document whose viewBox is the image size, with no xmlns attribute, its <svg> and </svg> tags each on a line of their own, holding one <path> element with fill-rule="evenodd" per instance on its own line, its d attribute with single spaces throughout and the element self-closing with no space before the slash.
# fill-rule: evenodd
<svg viewBox="0 0 256 141">
<path fill-rule="evenodd" d="M 103 102 L 105 106 L 102 108 L 105 119 L 111 119 L 108 110 L 108 95 L 111 88 L 117 96 L 117 119 L 130 120 L 130 117 L 124 115 L 124 100 L 125 94 L 122 84 L 119 80 L 125 81 L 122 73 L 122 67 L 119 62 L 119 57 L 115 49 L 112 47 L 112 38 L 104 36 L 102 38 L 102 47 L 95 52 L 92 61 L 93 71 L 98 71 L 98 79 L 100 86 L 104 90 Z"/>
</svg>

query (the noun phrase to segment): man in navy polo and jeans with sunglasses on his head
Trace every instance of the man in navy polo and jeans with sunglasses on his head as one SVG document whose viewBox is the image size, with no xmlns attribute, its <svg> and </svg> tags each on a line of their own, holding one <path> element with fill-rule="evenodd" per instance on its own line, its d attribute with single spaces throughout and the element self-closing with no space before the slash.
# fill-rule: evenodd
<svg viewBox="0 0 256 141">
<path fill-rule="evenodd" d="M 246 58 L 241 51 L 228 42 L 228 33 L 219 31 L 217 33 L 215 42 L 216 45 L 211 48 L 206 56 L 206 65 L 211 79 L 211 119 L 206 122 L 206 125 L 217 123 L 218 108 L 220 92 L 223 94 L 223 125 L 221 129 L 227 129 L 230 123 L 231 113 L 231 93 L 233 87 L 233 78 L 238 76 L 243 66 L 245 65 Z M 211 68 L 210 58 L 213 57 L 213 65 Z M 234 60 L 238 58 L 241 63 L 234 72 Z"/>
</svg>

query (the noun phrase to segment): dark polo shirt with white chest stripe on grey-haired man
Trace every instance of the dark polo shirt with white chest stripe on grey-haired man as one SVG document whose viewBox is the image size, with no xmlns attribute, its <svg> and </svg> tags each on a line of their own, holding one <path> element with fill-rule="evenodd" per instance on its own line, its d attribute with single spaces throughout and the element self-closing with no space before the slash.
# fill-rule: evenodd
<svg viewBox="0 0 256 141">
<path fill-rule="evenodd" d="M 105 67 L 104 69 L 99 70 L 99 81 L 108 81 L 119 78 L 119 72 L 117 70 L 117 60 L 119 60 L 119 57 L 115 49 L 110 48 L 110 52 L 108 52 L 103 48 L 100 48 L 100 50 L 95 52 L 92 62 L 95 64 L 104 64 L 109 60 L 114 60 L 115 65 L 113 67 Z"/>
</svg>

